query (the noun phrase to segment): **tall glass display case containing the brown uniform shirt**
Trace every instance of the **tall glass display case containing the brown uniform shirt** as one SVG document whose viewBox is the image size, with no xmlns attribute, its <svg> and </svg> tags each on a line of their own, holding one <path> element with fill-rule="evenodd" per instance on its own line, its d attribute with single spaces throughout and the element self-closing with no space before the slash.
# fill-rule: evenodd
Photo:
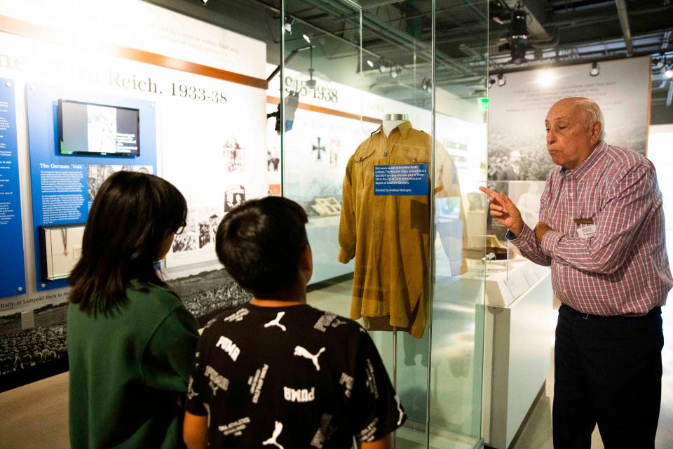
<svg viewBox="0 0 673 449">
<path fill-rule="evenodd" d="M 397 447 L 478 447 L 487 2 L 286 0 L 280 16 L 269 90 L 282 194 L 309 215 L 308 302 L 369 330 L 408 415 Z"/>
</svg>

